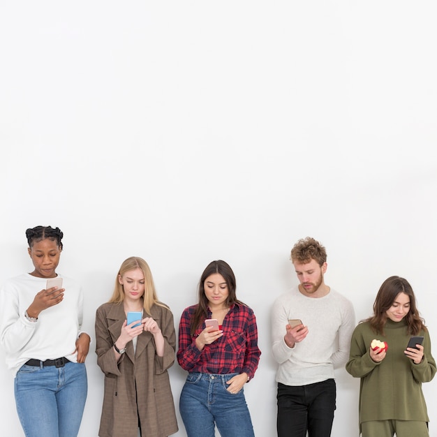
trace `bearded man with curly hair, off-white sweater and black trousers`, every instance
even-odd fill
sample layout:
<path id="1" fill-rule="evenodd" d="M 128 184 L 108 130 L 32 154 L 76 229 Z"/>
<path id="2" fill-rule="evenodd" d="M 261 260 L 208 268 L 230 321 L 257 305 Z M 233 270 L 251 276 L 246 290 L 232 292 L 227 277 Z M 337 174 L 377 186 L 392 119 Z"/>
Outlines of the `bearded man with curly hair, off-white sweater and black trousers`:
<path id="1" fill-rule="evenodd" d="M 299 285 L 279 296 L 272 312 L 279 437 L 329 437 L 336 401 L 334 368 L 349 357 L 355 328 L 351 302 L 327 286 L 325 247 L 311 237 L 291 251 Z M 294 320 L 297 320 L 295 322 Z"/>

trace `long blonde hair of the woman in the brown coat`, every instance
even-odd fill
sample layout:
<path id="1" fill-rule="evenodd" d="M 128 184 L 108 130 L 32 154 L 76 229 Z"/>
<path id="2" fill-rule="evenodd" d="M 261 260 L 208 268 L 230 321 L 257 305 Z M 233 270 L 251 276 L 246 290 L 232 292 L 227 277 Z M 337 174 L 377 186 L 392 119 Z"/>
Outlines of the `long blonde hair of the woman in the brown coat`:
<path id="1" fill-rule="evenodd" d="M 135 269 L 140 269 L 142 271 L 142 274 L 144 274 L 145 292 L 143 295 L 143 306 L 146 310 L 146 313 L 150 314 L 150 309 L 154 304 L 163 306 L 164 308 L 168 308 L 167 305 L 158 301 L 158 297 L 156 296 L 154 279 L 151 276 L 150 267 L 147 262 L 145 262 L 145 260 L 138 256 L 131 256 L 121 263 L 119 272 L 115 277 L 114 292 L 112 293 L 112 297 L 110 298 L 109 302 L 111 304 L 121 304 L 121 302 L 124 301 L 124 289 L 121 283 L 119 283 L 119 276 L 123 276 L 126 272 Z"/>

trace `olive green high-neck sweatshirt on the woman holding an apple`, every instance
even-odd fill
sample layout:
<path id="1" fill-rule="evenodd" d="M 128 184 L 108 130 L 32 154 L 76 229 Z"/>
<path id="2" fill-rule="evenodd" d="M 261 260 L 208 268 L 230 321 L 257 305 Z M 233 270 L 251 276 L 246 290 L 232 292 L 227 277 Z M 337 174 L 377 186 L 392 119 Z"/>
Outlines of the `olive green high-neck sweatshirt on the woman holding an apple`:
<path id="1" fill-rule="evenodd" d="M 429 333 L 424 336 L 424 357 L 420 364 L 406 357 L 410 334 L 406 321 L 387 319 L 385 335 L 371 330 L 369 322 L 355 327 L 350 342 L 350 357 L 346 370 L 360 382 L 360 431 L 362 422 L 369 420 L 416 420 L 429 422 L 427 404 L 422 393 L 422 383 L 429 382 L 436 374 L 436 362 L 431 355 Z M 369 353 L 373 339 L 387 341 L 387 355 L 380 363 L 374 362 Z"/>

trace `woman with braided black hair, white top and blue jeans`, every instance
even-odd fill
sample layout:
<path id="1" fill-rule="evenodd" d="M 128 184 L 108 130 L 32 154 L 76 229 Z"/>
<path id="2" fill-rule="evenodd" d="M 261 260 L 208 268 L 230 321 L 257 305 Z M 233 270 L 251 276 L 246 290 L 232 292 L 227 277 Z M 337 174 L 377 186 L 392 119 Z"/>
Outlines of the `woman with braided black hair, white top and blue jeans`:
<path id="1" fill-rule="evenodd" d="M 82 289 L 57 274 L 59 228 L 26 231 L 34 271 L 0 290 L 0 343 L 15 376 L 15 403 L 27 437 L 76 437 L 85 399 L 84 361 L 90 337 L 82 332 Z M 51 286 L 47 279 L 62 279 Z"/>

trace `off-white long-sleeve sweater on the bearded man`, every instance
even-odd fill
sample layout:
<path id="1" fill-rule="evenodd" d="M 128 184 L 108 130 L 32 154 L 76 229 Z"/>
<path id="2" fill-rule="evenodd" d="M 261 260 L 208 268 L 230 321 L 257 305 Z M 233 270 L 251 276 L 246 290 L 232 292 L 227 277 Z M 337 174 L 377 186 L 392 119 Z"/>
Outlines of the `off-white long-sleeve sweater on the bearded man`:
<path id="1" fill-rule="evenodd" d="M 293 348 L 284 341 L 290 319 L 300 319 L 308 335 Z M 272 353 L 278 362 L 276 381 L 308 385 L 334 378 L 334 368 L 346 364 L 355 328 L 352 303 L 335 290 L 306 297 L 298 286 L 276 298 L 272 309 Z"/>

